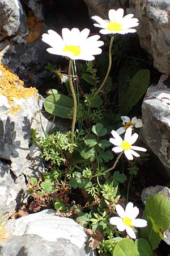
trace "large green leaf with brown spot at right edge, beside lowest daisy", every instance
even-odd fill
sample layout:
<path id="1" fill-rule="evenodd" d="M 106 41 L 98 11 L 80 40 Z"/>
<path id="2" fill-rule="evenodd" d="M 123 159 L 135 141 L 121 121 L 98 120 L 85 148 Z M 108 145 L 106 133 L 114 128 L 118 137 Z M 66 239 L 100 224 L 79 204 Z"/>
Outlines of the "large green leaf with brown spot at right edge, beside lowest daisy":
<path id="1" fill-rule="evenodd" d="M 146 228 L 142 228 L 145 238 L 155 250 L 163 239 L 163 232 L 170 228 L 170 200 L 163 194 L 148 197 L 143 218 L 147 220 Z"/>

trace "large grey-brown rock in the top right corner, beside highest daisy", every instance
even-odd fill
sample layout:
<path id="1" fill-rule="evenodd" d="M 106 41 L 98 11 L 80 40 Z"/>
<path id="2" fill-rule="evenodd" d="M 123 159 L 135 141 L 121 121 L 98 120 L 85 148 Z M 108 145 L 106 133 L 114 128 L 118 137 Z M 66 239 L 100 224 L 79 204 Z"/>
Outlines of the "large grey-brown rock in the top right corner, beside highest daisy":
<path id="1" fill-rule="evenodd" d="M 137 33 L 141 47 L 154 59 L 158 71 L 170 75 L 170 2 L 169 0 L 130 0 L 131 10 L 139 19 Z"/>

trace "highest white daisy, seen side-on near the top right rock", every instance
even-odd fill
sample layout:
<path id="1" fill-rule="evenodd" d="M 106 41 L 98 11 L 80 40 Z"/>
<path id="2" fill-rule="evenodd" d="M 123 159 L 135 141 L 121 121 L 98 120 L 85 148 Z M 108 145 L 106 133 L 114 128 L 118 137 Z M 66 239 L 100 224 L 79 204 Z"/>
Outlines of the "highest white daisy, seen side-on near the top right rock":
<path id="1" fill-rule="evenodd" d="M 109 20 L 101 19 L 99 16 L 92 16 L 99 24 L 94 24 L 95 27 L 102 28 L 101 34 L 128 34 L 134 33 L 136 30 L 132 27 L 139 25 L 138 19 L 133 18 L 133 14 L 124 16 L 124 9 L 109 10 Z"/>

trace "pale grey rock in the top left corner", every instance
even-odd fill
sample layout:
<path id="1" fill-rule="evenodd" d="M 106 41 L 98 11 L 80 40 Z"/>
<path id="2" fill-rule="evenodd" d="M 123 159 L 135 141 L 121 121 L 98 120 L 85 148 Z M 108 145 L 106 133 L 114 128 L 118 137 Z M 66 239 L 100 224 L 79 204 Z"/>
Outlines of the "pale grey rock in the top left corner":
<path id="1" fill-rule="evenodd" d="M 19 0 L 0 0 L 0 31 L 3 36 L 27 32 L 25 16 Z M 0 40 L 2 35 L 0 34 Z"/>

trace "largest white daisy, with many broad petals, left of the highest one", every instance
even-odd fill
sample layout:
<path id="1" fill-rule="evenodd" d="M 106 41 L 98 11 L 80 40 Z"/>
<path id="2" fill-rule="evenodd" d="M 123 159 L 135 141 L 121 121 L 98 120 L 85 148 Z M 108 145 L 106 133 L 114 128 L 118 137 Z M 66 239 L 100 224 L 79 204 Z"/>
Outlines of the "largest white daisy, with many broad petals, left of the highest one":
<path id="1" fill-rule="evenodd" d="M 62 28 L 62 37 L 53 30 L 48 30 L 48 34 L 42 34 L 42 41 L 52 48 L 46 49 L 49 53 L 69 57 L 72 60 L 94 60 L 94 55 L 102 52 L 99 48 L 103 46 L 103 41 L 99 41 L 100 36 L 94 35 L 88 38 L 90 30 L 84 28 Z"/>

